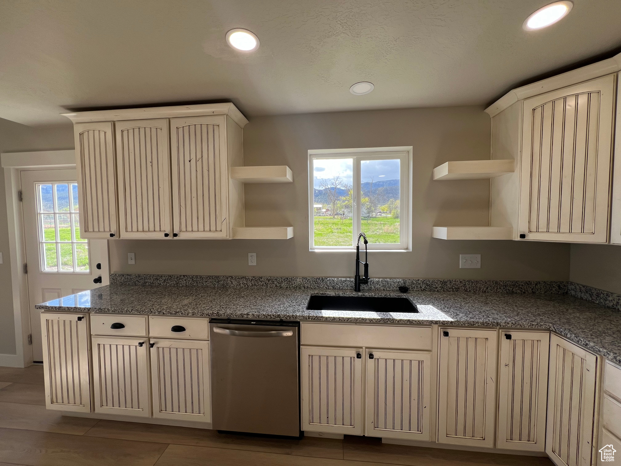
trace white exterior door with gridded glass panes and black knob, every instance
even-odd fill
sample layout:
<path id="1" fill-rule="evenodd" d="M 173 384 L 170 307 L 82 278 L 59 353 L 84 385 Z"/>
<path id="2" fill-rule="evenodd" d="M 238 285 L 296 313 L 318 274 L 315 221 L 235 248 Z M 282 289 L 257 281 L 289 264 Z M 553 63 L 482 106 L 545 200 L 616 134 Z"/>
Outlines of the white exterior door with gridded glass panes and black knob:
<path id="1" fill-rule="evenodd" d="M 34 361 L 43 360 L 40 311 L 35 304 L 108 284 L 107 240 L 80 236 L 76 176 L 73 169 L 21 173 Z M 94 283 L 100 276 L 101 283 Z M 71 305 L 73 298 L 64 301 Z"/>

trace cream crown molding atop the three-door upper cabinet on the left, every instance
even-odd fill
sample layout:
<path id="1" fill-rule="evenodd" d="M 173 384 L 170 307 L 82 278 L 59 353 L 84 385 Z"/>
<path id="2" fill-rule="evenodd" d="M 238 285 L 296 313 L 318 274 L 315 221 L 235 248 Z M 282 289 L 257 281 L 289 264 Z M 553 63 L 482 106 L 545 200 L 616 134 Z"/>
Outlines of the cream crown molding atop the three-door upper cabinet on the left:
<path id="1" fill-rule="evenodd" d="M 232 103 L 179 105 L 173 107 L 130 108 L 118 110 L 96 110 L 61 114 L 73 123 L 98 121 L 143 120 L 158 118 L 178 118 L 191 116 L 228 115 L 243 128 L 248 119 Z"/>

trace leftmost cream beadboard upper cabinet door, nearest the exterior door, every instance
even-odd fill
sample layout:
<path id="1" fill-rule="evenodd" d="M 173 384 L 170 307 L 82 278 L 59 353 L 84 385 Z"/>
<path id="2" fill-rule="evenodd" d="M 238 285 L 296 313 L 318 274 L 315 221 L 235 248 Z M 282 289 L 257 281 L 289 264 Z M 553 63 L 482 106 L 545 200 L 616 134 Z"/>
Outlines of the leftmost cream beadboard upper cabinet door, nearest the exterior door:
<path id="1" fill-rule="evenodd" d="M 73 129 L 80 234 L 83 238 L 118 237 L 112 123 L 78 123 Z"/>

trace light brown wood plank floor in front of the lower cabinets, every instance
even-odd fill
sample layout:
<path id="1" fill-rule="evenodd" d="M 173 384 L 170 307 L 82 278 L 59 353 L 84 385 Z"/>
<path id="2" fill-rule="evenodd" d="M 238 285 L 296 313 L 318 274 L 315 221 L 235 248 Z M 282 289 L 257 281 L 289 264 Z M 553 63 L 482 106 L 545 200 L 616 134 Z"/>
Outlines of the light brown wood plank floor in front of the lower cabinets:
<path id="1" fill-rule="evenodd" d="M 0 466 L 552 466 L 545 458 L 382 444 L 300 441 L 71 418 L 45 409 L 43 368 L 0 367 Z"/>

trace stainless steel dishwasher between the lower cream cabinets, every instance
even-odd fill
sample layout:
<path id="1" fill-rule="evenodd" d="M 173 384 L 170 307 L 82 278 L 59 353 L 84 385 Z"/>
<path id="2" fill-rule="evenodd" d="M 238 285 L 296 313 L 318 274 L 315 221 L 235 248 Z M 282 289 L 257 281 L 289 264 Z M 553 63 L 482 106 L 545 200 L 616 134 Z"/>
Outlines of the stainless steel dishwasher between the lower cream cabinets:
<path id="1" fill-rule="evenodd" d="M 299 322 L 211 319 L 213 428 L 300 435 Z"/>

